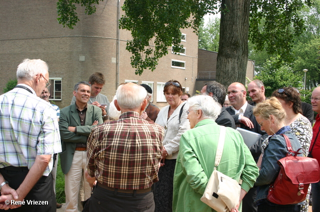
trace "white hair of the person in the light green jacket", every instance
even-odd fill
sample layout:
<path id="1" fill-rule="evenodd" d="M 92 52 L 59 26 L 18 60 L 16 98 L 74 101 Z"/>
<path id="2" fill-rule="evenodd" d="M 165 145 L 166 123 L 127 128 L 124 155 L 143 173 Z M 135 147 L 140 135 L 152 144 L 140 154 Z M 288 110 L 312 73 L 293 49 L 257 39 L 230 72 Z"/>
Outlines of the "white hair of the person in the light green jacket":
<path id="1" fill-rule="evenodd" d="M 187 100 L 191 110 L 201 110 L 203 118 L 215 119 L 221 113 L 221 106 L 219 103 L 208 95 L 197 95 Z"/>

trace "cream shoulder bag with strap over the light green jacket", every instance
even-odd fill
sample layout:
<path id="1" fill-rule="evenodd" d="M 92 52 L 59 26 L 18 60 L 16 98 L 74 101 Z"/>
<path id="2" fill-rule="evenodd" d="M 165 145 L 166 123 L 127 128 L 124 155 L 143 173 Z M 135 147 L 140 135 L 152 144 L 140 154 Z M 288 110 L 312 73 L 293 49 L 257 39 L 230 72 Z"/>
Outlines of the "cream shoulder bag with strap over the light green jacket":
<path id="1" fill-rule="evenodd" d="M 238 182 L 216 171 L 224 145 L 225 127 L 220 126 L 220 135 L 215 154 L 214 171 L 205 187 L 201 201 L 217 212 L 229 212 L 239 203 L 240 190 Z"/>

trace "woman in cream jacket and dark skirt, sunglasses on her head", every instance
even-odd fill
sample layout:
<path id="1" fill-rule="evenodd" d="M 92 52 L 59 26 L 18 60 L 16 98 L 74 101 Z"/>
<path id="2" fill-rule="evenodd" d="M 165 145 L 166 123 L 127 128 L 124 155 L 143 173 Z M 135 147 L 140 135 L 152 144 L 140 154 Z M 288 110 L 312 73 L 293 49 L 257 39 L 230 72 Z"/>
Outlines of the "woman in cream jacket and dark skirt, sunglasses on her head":
<path id="1" fill-rule="evenodd" d="M 153 195 L 155 212 L 172 212 L 174 167 L 181 134 L 190 129 L 186 114 L 189 105 L 180 99 L 182 86 L 176 80 L 164 84 L 163 94 L 169 105 L 160 110 L 155 120 L 156 124 L 164 128 L 164 138 L 159 181 L 153 184 Z"/>

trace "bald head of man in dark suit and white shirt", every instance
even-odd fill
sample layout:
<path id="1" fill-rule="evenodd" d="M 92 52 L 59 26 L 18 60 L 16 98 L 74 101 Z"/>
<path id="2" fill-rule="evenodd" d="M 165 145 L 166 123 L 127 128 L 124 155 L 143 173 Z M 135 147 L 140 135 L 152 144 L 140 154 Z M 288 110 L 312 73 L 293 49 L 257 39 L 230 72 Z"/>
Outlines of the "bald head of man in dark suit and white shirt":
<path id="1" fill-rule="evenodd" d="M 229 85 L 227 89 L 228 99 L 230 104 L 239 110 L 246 102 L 246 90 L 243 84 L 239 82 L 233 82 Z"/>

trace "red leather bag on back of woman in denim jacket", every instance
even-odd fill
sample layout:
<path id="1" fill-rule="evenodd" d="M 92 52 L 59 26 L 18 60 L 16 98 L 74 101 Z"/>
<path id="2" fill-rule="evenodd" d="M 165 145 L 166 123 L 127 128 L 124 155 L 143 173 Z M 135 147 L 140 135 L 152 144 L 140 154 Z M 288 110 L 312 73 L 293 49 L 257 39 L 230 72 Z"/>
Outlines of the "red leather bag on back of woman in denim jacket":
<path id="1" fill-rule="evenodd" d="M 278 205 L 297 204 L 305 200 L 310 183 L 320 180 L 319 165 L 314 158 L 297 157 L 300 153 L 292 150 L 286 135 L 281 135 L 288 152 L 286 157 L 278 160 L 280 172 L 270 185 L 266 199 Z"/>

